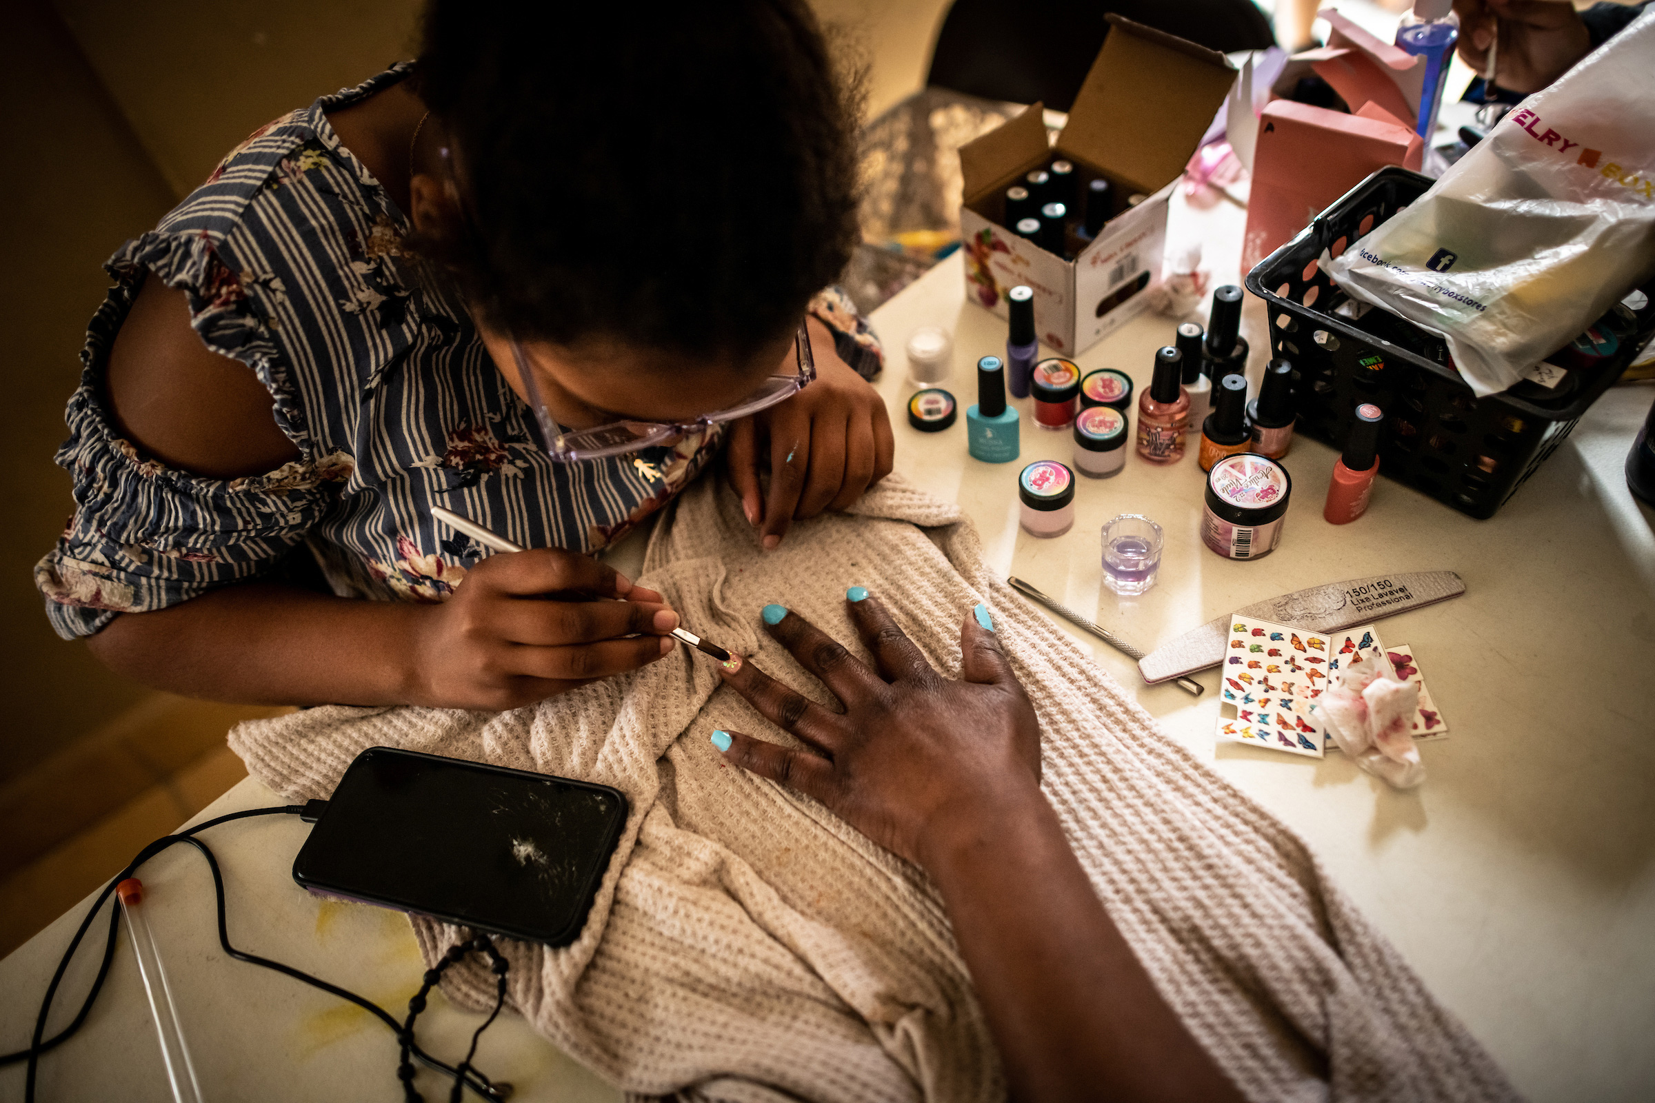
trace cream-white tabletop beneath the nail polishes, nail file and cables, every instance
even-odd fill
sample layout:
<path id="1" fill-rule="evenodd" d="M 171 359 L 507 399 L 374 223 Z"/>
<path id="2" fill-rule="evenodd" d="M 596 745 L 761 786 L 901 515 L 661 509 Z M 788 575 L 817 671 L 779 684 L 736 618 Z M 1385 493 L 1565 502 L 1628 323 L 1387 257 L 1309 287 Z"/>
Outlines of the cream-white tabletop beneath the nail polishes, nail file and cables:
<path id="1" fill-rule="evenodd" d="M 1173 202 L 1172 240 L 1203 240 L 1218 281 L 1235 279 L 1241 212 Z M 1380 478 L 1360 521 L 1321 519 L 1334 453 L 1294 443 L 1294 498 L 1281 547 L 1230 562 L 1198 539 L 1202 475 L 1127 460 L 1106 481 L 1081 480 L 1077 523 L 1058 539 L 1018 528 L 1023 463 L 1067 461 L 1067 433 L 1033 427 L 1023 456 L 967 458 L 965 418 L 935 435 L 907 425 L 902 346 L 922 324 L 955 334 L 947 385 L 975 402 L 978 356 L 1003 354 L 1005 324 L 967 304 L 958 256 L 874 316 L 890 351 L 879 389 L 897 435 L 897 470 L 957 499 L 988 557 L 1067 605 L 1094 614 L 1140 647 L 1284 590 L 1392 571 L 1458 571 L 1465 597 L 1380 622 L 1387 643 L 1415 648 L 1451 736 L 1423 747 L 1425 785 L 1400 794 L 1339 754 L 1322 761 L 1215 744 L 1216 671 L 1192 698 L 1145 686 L 1135 665 L 1072 630 L 1099 665 L 1165 731 L 1309 840 L 1334 878 L 1397 944 L 1437 996 L 1534 1100 L 1655 1096 L 1655 513 L 1627 493 L 1622 463 L 1655 387 L 1610 390 L 1574 435 L 1491 521 L 1473 521 Z M 1259 311 L 1248 316 L 1261 324 Z M 1139 387 L 1173 322 L 1140 316 L 1079 357 L 1119 367 Z M 1248 329 L 1256 351 L 1266 339 Z M 1258 359 L 1258 357 L 1256 357 Z M 1256 382 L 1258 364 L 1253 379 Z M 1099 584 L 1099 528 L 1145 513 L 1167 532 L 1160 582 L 1117 599 Z M 1059 622 L 1064 623 L 1064 622 Z M 280 804 L 245 781 L 202 814 Z M 295 817 L 210 832 L 225 868 L 230 938 L 362 992 L 404 1005 L 420 962 L 407 921 L 367 906 L 321 903 L 290 878 L 308 830 Z M 157 939 L 172 971 L 207 1098 L 401 1098 L 392 1035 L 366 1012 L 265 969 L 227 959 L 212 929 L 212 886 L 194 852 L 152 860 Z M 38 996 L 83 908 L 0 962 L 0 1048 L 26 1042 Z M 101 926 L 101 924 L 99 924 Z M 66 991 L 84 991 L 83 954 Z M 53 1022 L 65 1022 L 60 1012 Z M 452 1060 L 477 1017 L 440 997 L 422 1017 L 429 1050 Z M 520 1100 L 614 1100 L 589 1072 L 503 1017 L 483 1037 L 478 1067 L 516 1085 Z M 83 1032 L 41 1063 L 43 1100 L 164 1100 L 159 1048 L 124 939 Z M 422 1073 L 427 1098 L 447 1082 Z M 22 1065 L 0 1070 L 0 1093 L 22 1098 Z"/>

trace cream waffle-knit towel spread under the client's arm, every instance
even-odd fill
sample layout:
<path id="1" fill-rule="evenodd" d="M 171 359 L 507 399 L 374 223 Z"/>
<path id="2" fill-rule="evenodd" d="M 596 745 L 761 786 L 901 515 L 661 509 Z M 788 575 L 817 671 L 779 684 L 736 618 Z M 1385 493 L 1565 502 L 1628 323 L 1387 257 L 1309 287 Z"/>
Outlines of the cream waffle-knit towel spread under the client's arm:
<path id="1" fill-rule="evenodd" d="M 816 700 L 826 691 L 756 630 L 766 602 L 861 653 L 844 590 L 866 585 L 952 676 L 960 618 L 986 602 L 1039 713 L 1044 789 L 1069 842 L 1160 992 L 1250 1098 L 1513 1098 L 1306 845 L 993 577 L 955 506 L 890 478 L 857 516 L 808 521 L 765 554 L 735 496 L 702 480 L 657 528 L 642 580 L 693 630 Z M 636 1096 L 1003 1098 L 925 875 L 727 766 L 715 728 L 788 739 L 680 648 L 511 713 L 316 708 L 242 724 L 230 744 L 293 800 L 326 797 L 369 746 L 626 792 L 631 819 L 581 938 L 508 954 L 511 1007 Z M 427 961 L 463 938 L 427 919 L 414 929 Z M 492 1004 L 482 969 L 449 977 L 450 997 Z"/>

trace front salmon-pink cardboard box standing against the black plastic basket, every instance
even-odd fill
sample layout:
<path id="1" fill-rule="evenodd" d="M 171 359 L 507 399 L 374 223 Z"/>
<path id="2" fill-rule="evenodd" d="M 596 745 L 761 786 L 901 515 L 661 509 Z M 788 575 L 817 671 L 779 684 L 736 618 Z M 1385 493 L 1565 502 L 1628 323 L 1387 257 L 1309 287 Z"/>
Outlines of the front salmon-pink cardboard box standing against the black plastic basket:
<path id="1" fill-rule="evenodd" d="M 1418 169 L 1423 154 L 1413 127 L 1375 103 L 1346 114 L 1273 101 L 1258 121 L 1241 271 L 1251 271 L 1375 169 Z"/>

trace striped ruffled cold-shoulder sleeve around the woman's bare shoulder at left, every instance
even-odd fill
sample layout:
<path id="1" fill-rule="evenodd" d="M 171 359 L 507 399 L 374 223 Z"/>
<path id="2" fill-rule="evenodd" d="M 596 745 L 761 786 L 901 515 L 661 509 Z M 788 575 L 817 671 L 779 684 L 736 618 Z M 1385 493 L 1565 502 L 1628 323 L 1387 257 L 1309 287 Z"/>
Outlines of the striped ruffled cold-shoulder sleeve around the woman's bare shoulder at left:
<path id="1" fill-rule="evenodd" d="M 207 235 L 152 232 L 108 268 L 116 286 L 88 329 L 70 437 L 56 455 L 73 478 L 76 509 L 35 566 L 46 615 L 65 638 L 93 635 L 122 612 L 166 609 L 275 571 L 333 501 L 331 485 L 353 473 L 348 455 L 316 455 L 265 321 Z M 146 271 L 187 293 L 190 324 L 209 347 L 258 375 L 300 460 L 255 478 L 215 480 L 167 468 L 121 438 L 104 407 L 104 372 Z"/>

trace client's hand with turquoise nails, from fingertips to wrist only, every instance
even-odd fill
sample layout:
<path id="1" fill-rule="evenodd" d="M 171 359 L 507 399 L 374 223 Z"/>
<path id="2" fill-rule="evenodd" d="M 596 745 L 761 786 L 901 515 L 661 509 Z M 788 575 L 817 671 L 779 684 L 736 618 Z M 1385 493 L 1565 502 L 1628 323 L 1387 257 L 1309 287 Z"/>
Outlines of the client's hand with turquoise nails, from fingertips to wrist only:
<path id="1" fill-rule="evenodd" d="M 727 733 L 730 761 L 798 789 L 887 850 L 930 865 L 957 828 L 1039 795 L 1039 723 L 1011 673 L 988 609 L 960 627 L 965 681 L 943 678 L 879 599 L 849 595 L 851 620 L 879 666 L 780 605 L 770 632 L 844 704 L 832 713 L 756 666 L 725 673 L 730 686 L 804 749 Z M 715 736 L 715 742 L 718 738 Z"/>

